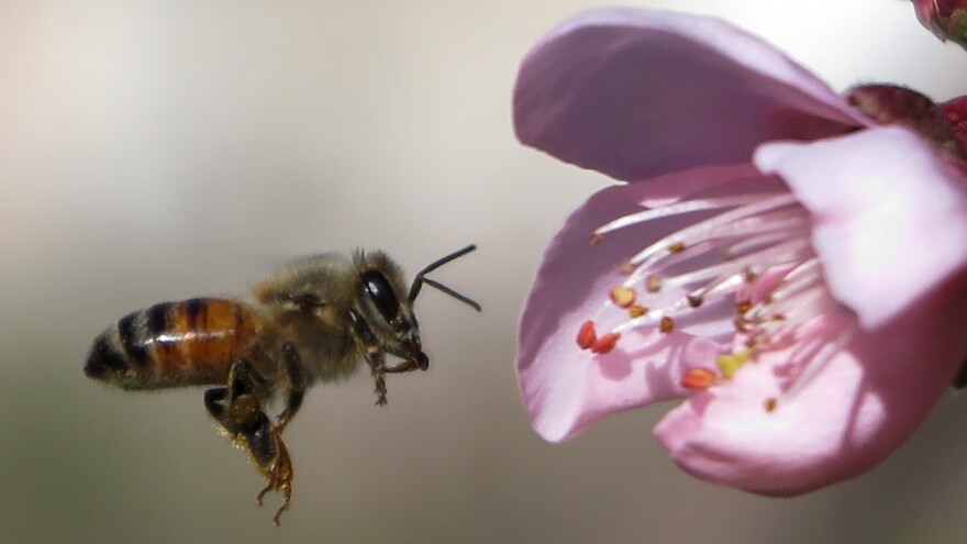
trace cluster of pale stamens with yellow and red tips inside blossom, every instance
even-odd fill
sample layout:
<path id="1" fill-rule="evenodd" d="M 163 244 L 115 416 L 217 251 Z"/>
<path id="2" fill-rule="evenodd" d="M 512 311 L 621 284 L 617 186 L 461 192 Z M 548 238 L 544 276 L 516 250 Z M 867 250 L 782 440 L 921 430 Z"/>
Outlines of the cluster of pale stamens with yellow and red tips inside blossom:
<path id="1" fill-rule="evenodd" d="M 836 308 L 810 244 L 810 215 L 788 189 L 697 198 L 643 210 L 598 227 L 591 243 L 609 232 L 671 215 L 703 212 L 691 225 L 641 249 L 621 267 L 614 286 L 577 336 L 581 349 L 605 354 L 635 330 L 676 330 L 726 323 L 740 338 L 735 353 L 714 367 L 692 368 L 681 377 L 689 389 L 731 379 L 748 360 L 768 349 L 797 344 L 790 357 L 793 377 L 782 398 L 794 395 L 847 342 L 802 336 L 801 325 Z M 652 299 L 659 303 L 649 303 Z M 615 318 L 614 313 L 621 312 Z M 599 334 L 597 323 L 616 323 Z M 723 327 L 724 329 L 724 327 Z M 802 337 L 800 337 L 802 336 Z M 771 411 L 782 399 L 766 399 Z"/>

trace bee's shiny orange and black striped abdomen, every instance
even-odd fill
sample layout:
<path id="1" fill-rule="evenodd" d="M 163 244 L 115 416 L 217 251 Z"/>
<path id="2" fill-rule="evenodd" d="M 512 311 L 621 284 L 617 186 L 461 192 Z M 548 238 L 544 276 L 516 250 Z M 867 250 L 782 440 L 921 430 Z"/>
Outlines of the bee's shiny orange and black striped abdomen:
<path id="1" fill-rule="evenodd" d="M 256 327 L 255 313 L 234 300 L 162 302 L 95 338 L 84 371 L 124 389 L 224 384 Z"/>

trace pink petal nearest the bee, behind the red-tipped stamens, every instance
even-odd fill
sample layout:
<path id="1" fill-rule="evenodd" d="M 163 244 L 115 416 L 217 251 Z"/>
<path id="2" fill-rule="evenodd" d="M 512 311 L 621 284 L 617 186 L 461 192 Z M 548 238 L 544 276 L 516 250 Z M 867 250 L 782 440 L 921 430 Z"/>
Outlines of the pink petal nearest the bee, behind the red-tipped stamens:
<path id="1" fill-rule="evenodd" d="M 624 275 L 621 264 L 648 238 L 681 226 L 681 220 L 609 233 L 591 246 L 591 232 L 615 217 L 640 210 L 645 184 L 608 187 L 571 212 L 537 271 L 520 323 L 518 377 L 534 430 L 548 441 L 570 437 L 608 413 L 682 397 L 687 368 L 714 362 L 720 346 L 681 332 L 632 332 L 605 355 L 581 351 L 581 323 L 608 299 Z M 616 323 L 599 323 L 603 333 Z"/>

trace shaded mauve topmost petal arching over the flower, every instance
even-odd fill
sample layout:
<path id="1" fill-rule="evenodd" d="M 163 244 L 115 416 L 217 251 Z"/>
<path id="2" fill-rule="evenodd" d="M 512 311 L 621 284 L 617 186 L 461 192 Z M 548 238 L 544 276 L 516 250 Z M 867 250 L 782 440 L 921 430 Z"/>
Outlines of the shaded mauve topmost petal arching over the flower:
<path id="1" fill-rule="evenodd" d="M 866 122 L 823 81 L 718 19 L 600 9 L 546 35 L 514 90 L 520 140 L 622 180 L 748 160 L 770 140 Z"/>

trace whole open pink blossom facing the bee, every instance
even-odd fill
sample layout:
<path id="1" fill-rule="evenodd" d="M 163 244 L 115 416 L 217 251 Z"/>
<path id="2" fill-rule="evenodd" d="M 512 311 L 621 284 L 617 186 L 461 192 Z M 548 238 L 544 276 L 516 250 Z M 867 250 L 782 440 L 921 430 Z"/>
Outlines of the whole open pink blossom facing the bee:
<path id="1" fill-rule="evenodd" d="M 905 123 L 920 96 L 881 90 L 847 101 L 710 18 L 596 10 L 542 38 L 519 137 L 626 184 L 571 212 L 527 298 L 535 431 L 686 399 L 654 431 L 675 462 L 767 495 L 909 437 L 967 353 L 967 184 L 942 112 Z"/>

